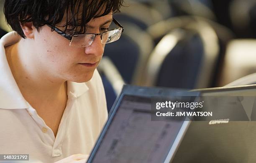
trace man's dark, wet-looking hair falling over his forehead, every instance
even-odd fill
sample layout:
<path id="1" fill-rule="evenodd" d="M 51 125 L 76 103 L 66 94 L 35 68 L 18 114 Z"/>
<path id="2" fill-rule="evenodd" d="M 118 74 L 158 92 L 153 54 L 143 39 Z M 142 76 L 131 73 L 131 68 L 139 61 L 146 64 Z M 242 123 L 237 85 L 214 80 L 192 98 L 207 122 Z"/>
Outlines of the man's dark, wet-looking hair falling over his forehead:
<path id="1" fill-rule="evenodd" d="M 123 0 L 5 0 L 7 23 L 26 38 L 20 25 L 32 22 L 36 29 L 48 24 L 55 26 L 66 17 L 64 32 L 85 33 L 92 18 L 120 12 Z M 79 29 L 79 30 L 77 30 Z"/>

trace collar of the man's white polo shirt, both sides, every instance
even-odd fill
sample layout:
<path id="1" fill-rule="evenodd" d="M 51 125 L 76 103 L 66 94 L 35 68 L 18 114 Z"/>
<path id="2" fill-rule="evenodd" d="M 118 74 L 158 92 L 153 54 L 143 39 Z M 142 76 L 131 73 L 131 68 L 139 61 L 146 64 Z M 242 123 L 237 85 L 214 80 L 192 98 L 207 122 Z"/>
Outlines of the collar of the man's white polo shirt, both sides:
<path id="1" fill-rule="evenodd" d="M 27 109 L 29 105 L 22 96 L 20 89 L 10 70 L 5 47 L 15 44 L 21 39 L 16 32 L 9 32 L 0 39 L 0 109 Z M 75 97 L 84 94 L 89 88 L 85 83 L 67 82 L 68 94 Z"/>

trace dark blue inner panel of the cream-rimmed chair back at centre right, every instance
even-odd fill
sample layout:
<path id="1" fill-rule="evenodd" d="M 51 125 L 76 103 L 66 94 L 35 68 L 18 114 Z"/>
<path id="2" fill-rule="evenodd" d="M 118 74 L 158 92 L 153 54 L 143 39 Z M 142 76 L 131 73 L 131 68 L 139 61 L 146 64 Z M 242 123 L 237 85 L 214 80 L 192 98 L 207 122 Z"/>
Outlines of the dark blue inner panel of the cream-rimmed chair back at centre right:
<path id="1" fill-rule="evenodd" d="M 197 34 L 186 36 L 166 55 L 156 80 L 156 86 L 193 89 L 204 56 L 202 40 Z"/>

